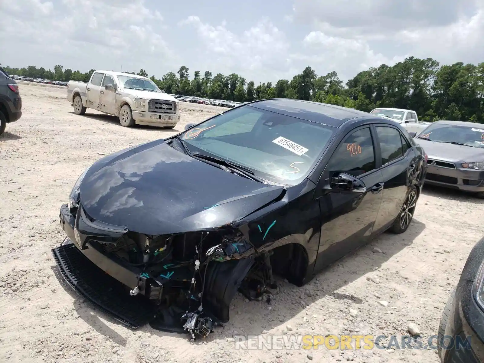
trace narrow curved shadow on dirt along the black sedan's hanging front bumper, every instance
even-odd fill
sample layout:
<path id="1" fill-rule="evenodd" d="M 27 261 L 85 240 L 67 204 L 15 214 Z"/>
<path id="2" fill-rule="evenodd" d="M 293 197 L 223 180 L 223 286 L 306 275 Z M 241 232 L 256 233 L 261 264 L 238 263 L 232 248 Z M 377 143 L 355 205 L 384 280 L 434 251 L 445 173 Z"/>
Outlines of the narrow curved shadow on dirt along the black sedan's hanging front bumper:
<path id="1" fill-rule="evenodd" d="M 114 343 L 125 347 L 126 338 L 109 328 L 101 318 L 112 324 L 120 324 L 120 322 L 111 315 L 105 313 L 96 305 L 92 304 L 90 301 L 86 300 L 82 295 L 78 294 L 71 286 L 69 286 L 61 276 L 61 272 L 59 272 L 56 265 L 51 266 L 50 268 L 59 280 L 61 287 L 74 299 L 73 305 L 76 313 L 79 315 L 79 319 L 84 320 L 97 333 L 107 336 Z"/>

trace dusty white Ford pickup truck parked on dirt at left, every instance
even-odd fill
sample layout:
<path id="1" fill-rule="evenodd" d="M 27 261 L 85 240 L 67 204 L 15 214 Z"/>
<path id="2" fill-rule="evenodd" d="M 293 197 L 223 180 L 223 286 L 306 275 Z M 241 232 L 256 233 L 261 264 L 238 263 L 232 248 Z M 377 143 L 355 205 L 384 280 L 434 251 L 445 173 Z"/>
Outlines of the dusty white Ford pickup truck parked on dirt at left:
<path id="1" fill-rule="evenodd" d="M 129 73 L 95 71 L 89 82 L 69 81 L 67 100 L 77 115 L 93 108 L 117 116 L 122 126 L 172 129 L 180 121 L 180 103 L 151 79 Z"/>

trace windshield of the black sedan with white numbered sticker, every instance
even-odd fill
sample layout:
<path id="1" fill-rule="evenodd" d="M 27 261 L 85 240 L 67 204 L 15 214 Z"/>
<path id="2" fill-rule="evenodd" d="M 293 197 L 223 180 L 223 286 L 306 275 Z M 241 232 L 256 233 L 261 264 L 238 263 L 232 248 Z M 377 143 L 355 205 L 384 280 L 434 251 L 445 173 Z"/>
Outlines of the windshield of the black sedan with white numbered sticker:
<path id="1" fill-rule="evenodd" d="M 280 184 L 298 184 L 332 139 L 335 128 L 252 106 L 237 107 L 182 134 L 191 152 L 244 166 Z"/>

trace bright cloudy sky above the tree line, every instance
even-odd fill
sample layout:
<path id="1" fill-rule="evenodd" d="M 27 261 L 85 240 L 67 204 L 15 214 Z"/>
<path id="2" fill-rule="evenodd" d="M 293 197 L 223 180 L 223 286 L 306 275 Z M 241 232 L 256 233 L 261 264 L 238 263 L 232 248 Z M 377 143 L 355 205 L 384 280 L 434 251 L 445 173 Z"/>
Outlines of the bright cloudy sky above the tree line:
<path id="1" fill-rule="evenodd" d="M 484 0 L 0 1 L 0 63 L 86 72 L 181 65 L 247 80 L 348 78 L 412 55 L 484 61 Z"/>

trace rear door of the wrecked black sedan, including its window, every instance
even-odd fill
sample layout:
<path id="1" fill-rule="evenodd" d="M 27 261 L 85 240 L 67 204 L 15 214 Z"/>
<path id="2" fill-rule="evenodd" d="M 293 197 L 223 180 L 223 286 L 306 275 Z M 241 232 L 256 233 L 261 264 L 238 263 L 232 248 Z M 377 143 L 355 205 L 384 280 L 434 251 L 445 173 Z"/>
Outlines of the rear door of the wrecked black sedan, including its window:
<path id="1" fill-rule="evenodd" d="M 410 184 L 410 173 L 416 167 L 416 154 L 397 127 L 375 124 L 375 135 L 380 145 L 381 165 L 385 187 L 375 222 L 375 233 L 390 227 L 402 209 Z"/>

